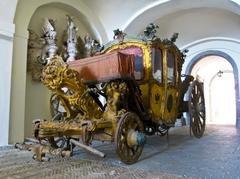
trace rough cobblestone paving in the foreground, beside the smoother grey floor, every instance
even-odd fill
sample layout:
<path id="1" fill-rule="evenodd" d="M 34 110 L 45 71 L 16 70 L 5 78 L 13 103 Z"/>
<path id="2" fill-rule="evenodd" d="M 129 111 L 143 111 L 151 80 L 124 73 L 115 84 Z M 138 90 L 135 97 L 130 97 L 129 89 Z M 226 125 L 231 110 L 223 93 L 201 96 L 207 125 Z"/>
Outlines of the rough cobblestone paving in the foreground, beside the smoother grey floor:
<path id="1" fill-rule="evenodd" d="M 14 147 L 0 147 L 0 178 L 84 178 L 84 179 L 171 179 L 185 178 L 142 169 L 130 169 L 102 161 L 53 157 L 49 162 L 37 162 L 29 151 L 20 151 Z"/>

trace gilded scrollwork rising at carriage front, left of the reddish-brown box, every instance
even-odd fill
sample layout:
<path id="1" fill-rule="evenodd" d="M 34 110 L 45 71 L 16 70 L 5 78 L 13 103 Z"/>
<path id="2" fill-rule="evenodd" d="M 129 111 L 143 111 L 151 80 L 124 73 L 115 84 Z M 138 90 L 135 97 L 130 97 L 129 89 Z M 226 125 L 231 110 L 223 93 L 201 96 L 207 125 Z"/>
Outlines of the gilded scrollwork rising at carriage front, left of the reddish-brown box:
<path id="1" fill-rule="evenodd" d="M 43 69 L 42 82 L 50 90 L 61 96 L 62 104 L 67 111 L 67 118 L 81 111 L 85 119 L 99 119 L 102 111 L 89 90 L 84 85 L 79 73 L 68 68 L 60 56 L 55 56 Z M 89 107 L 91 106 L 91 107 Z"/>

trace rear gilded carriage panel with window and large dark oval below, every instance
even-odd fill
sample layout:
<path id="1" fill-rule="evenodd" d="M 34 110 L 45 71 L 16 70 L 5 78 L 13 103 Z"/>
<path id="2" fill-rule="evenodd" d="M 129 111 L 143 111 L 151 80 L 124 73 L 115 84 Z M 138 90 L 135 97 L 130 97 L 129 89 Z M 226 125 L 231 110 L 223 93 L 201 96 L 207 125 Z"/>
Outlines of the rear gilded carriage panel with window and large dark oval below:
<path id="1" fill-rule="evenodd" d="M 174 124 L 177 112 L 177 72 L 176 72 L 176 55 L 172 49 L 166 52 L 165 63 L 165 107 L 164 120 L 169 124 Z"/>

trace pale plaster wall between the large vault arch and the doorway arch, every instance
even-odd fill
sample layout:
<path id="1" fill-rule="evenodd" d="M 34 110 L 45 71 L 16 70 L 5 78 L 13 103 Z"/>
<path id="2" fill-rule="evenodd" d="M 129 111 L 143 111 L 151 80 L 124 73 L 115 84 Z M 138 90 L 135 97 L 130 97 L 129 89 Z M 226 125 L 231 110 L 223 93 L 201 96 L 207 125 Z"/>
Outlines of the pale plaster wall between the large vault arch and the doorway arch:
<path id="1" fill-rule="evenodd" d="M 239 15 L 215 8 L 197 8 L 179 11 L 155 21 L 160 38 L 179 33 L 177 45 L 183 46 L 207 37 L 240 38 Z"/>

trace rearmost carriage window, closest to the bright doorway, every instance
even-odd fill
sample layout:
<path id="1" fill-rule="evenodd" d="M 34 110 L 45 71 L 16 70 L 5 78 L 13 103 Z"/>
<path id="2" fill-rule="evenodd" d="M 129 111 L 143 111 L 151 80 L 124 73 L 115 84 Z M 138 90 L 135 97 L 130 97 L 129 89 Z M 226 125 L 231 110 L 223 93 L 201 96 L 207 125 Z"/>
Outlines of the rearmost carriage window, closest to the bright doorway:
<path id="1" fill-rule="evenodd" d="M 175 56 L 174 53 L 167 53 L 167 82 L 168 84 L 175 84 Z"/>

